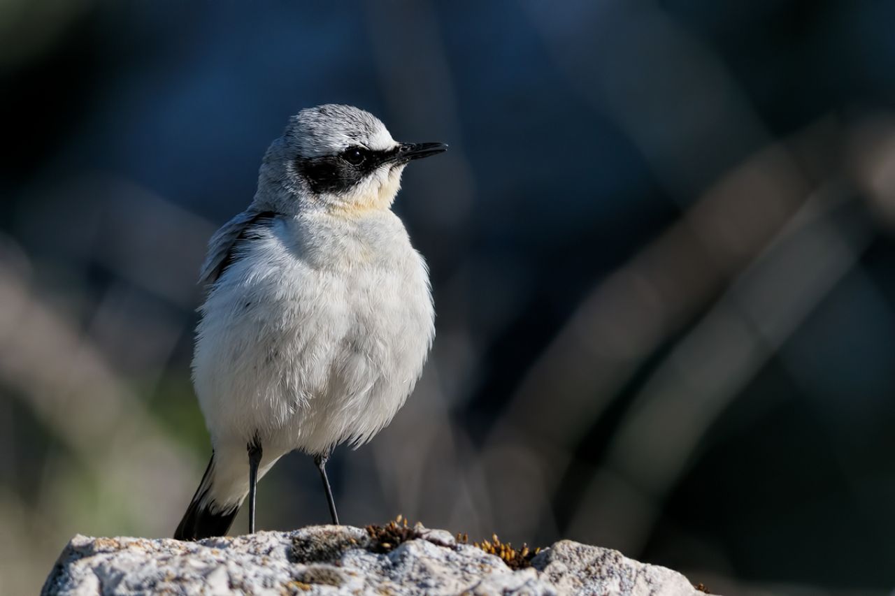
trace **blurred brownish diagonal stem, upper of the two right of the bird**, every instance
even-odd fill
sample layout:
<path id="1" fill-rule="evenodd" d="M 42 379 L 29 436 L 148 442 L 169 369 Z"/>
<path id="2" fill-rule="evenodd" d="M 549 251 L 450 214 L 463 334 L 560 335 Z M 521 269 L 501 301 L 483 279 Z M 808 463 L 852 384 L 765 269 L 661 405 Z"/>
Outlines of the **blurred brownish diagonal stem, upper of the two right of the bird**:
<path id="1" fill-rule="evenodd" d="M 763 251 L 809 186 L 781 145 L 726 175 L 584 300 L 525 375 L 492 440 L 575 445 L 644 359 Z"/>

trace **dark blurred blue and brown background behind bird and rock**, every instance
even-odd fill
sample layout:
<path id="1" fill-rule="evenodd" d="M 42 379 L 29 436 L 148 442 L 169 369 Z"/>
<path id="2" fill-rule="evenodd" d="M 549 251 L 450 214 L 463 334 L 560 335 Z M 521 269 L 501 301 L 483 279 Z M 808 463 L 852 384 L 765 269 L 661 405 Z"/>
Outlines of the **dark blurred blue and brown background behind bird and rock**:
<path id="1" fill-rule="evenodd" d="M 713 592 L 895 587 L 895 3 L 4 0 L 0 592 L 168 536 L 197 271 L 304 106 L 451 150 L 396 210 L 438 337 L 345 523 L 561 537 Z M 310 458 L 263 529 L 328 520 Z M 244 532 L 241 515 L 233 532 Z"/>

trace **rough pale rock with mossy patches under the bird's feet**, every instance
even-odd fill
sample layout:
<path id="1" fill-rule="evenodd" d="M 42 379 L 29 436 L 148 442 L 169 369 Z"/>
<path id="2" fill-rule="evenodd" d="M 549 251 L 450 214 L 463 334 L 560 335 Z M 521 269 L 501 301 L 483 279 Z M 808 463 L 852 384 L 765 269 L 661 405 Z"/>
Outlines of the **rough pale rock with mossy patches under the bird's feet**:
<path id="1" fill-rule="evenodd" d="M 418 530 L 419 538 L 401 544 L 351 526 L 200 542 L 79 535 L 42 593 L 701 594 L 683 575 L 615 550 L 560 541 L 514 571 L 448 532 Z"/>

